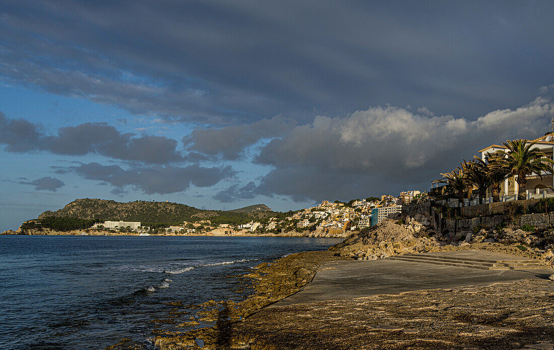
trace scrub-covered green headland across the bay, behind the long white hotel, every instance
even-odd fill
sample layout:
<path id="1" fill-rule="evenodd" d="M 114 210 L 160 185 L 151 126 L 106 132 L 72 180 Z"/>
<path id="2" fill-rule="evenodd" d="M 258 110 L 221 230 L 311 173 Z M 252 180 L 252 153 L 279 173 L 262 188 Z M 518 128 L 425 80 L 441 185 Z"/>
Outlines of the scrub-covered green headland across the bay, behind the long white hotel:
<path id="1" fill-rule="evenodd" d="M 213 223 L 242 224 L 253 219 L 280 217 L 283 213 L 273 212 L 265 204 L 255 204 L 234 210 L 206 210 L 190 205 L 172 202 L 135 202 L 120 203 L 105 199 L 76 199 L 64 208 L 52 212 L 48 210 L 39 215 L 37 223 L 43 227 L 74 227 L 82 222 L 104 222 L 105 220 L 139 221 L 143 225 L 167 227 L 184 221 L 197 222 L 211 220 Z M 58 218 L 53 220 L 53 218 Z M 53 227 L 50 227 L 52 225 Z"/>

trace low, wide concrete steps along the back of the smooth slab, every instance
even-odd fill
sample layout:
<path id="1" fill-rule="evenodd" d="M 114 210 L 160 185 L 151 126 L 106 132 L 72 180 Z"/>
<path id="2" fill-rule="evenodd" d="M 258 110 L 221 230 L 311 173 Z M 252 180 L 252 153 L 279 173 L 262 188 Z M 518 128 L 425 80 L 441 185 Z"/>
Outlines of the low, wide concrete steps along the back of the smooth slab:
<path id="1" fill-rule="evenodd" d="M 445 266 L 469 267 L 470 269 L 480 270 L 528 270 L 528 269 L 546 269 L 541 260 L 523 259 L 523 260 L 484 260 L 484 259 L 466 259 L 458 257 L 426 255 L 426 254 L 406 254 L 396 255 L 388 258 L 391 260 L 412 261 L 414 263 L 425 263 Z"/>

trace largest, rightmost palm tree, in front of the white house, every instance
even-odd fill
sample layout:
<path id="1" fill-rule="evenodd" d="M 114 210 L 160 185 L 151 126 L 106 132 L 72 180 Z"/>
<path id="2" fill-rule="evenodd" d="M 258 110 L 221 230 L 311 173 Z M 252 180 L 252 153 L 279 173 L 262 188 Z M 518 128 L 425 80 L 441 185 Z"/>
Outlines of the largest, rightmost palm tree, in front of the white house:
<path id="1" fill-rule="evenodd" d="M 531 148 L 536 142 L 513 140 L 502 143 L 507 150 L 498 151 L 493 157 L 494 166 L 509 175 L 517 175 L 519 193 L 517 199 L 525 199 L 527 176 L 535 173 L 542 180 L 542 172 L 551 172 L 554 161 L 548 159 L 545 153 L 537 147 Z"/>

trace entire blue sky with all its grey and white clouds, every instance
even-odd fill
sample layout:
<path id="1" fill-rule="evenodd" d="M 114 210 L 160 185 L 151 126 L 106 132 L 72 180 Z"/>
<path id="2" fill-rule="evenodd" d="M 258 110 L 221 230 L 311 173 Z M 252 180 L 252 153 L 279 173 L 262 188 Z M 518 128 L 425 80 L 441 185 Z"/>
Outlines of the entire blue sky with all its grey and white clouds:
<path id="1" fill-rule="evenodd" d="M 554 117 L 551 1 L 0 2 L 0 230 L 430 188 Z"/>

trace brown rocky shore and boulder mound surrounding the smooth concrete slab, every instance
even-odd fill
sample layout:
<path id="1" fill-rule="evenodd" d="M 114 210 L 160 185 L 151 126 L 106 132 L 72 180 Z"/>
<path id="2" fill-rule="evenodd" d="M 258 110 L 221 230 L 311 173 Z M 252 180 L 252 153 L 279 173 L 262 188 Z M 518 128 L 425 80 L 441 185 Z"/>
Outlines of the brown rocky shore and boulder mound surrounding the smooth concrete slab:
<path id="1" fill-rule="evenodd" d="M 237 303 L 209 301 L 197 306 L 199 311 L 183 325 L 189 331 L 158 330 L 156 346 L 161 350 L 201 346 L 207 350 L 514 349 L 553 339 L 554 285 L 549 280 L 267 307 L 301 290 L 325 261 L 481 249 L 542 259 L 554 265 L 551 249 L 521 248 L 521 240 L 531 235 L 521 230 L 505 230 L 504 234 L 500 230 L 494 233 L 500 240 L 495 243 L 484 242 L 479 237 L 489 233 L 478 232 L 469 235 L 469 243 L 465 236 L 460 240 L 448 233 L 433 233 L 413 218 L 404 219 L 408 224 L 388 220 L 328 251 L 292 254 L 254 267 L 242 276 L 252 282 L 253 295 Z M 519 240 L 501 241 L 502 235 Z M 195 328 L 209 322 L 212 327 Z M 130 348 L 129 339 L 110 347 Z"/>

